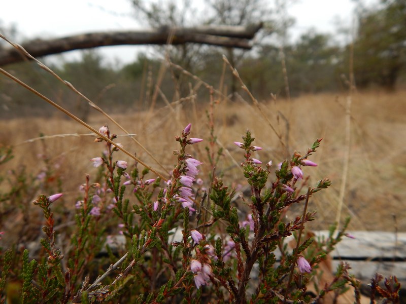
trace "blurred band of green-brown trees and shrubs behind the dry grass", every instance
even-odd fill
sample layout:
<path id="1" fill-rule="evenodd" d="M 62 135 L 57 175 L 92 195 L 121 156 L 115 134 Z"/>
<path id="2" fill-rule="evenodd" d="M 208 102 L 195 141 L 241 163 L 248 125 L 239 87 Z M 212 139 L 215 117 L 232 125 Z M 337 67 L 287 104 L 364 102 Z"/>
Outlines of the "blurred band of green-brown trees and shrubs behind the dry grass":
<path id="1" fill-rule="evenodd" d="M 188 26 L 193 11 L 166 1 L 156 5 L 149 1 L 131 0 L 134 10 L 146 27 L 163 25 Z M 345 75 L 349 74 L 350 54 L 353 54 L 353 69 L 356 87 L 359 90 L 383 88 L 394 91 L 406 82 L 406 2 L 404 0 L 382 0 L 378 6 L 365 7 L 358 2 L 356 26 L 351 42 L 337 39 L 341 33 L 327 35 L 317 30 L 302 34 L 294 43 L 288 43 L 289 27 L 294 24 L 288 15 L 290 1 L 276 0 L 273 9 L 262 0 L 206 0 L 211 16 L 195 16 L 200 24 L 247 25 L 264 22 L 251 51 L 222 49 L 209 46 L 183 45 L 170 47 L 168 54 L 172 62 L 211 85 L 220 83 L 224 75 L 223 92 L 231 96 L 242 94 L 228 69 L 223 70 L 221 56 L 225 54 L 235 66 L 258 100 L 269 100 L 270 93 L 279 98 L 295 97 L 303 93 L 338 92 L 347 90 Z M 0 23 L 1 26 L 1 23 Z M 0 30 L 13 38 L 15 28 Z M 345 29 L 342 29 L 344 31 Z M 348 30 L 347 30 L 348 31 Z M 347 35 L 347 36 L 348 36 Z M 4 43 L 2 43 L 4 45 Z M 2 46 L 0 45 L 0 46 Z M 84 95 L 104 107 L 107 111 L 123 109 L 143 110 L 149 107 L 151 94 L 158 81 L 161 59 L 165 47 L 156 48 L 156 56 L 139 53 L 136 60 L 125 65 L 106 64 L 97 49 L 83 51 L 81 60 L 67 61 L 60 56 L 58 64 L 47 62 L 61 77 L 74 84 Z M 351 51 L 353 49 L 353 51 Z M 284 74 L 283 67 L 286 67 Z M 80 102 L 74 93 L 62 90 L 61 84 L 33 63 L 9 65 L 21 80 L 40 92 L 47 92 L 56 101 L 76 112 L 82 118 L 88 115 L 89 107 Z M 287 76 L 287 81 L 284 76 Z M 348 78 L 348 77 L 347 77 Z M 174 86 L 174 82 L 176 85 Z M 165 73 L 160 89 L 173 100 L 189 94 L 188 80 L 179 70 Z M 202 92 L 200 97 L 205 97 Z M 201 98 L 204 99 L 204 98 Z M 162 102 L 158 96 L 157 102 Z M 17 84 L 0 80 L 1 118 L 24 115 L 49 115 L 51 108 L 44 106 L 31 93 L 21 90 Z M 41 104 L 39 107 L 38 104 Z M 23 106 L 22 106 L 23 105 Z"/>

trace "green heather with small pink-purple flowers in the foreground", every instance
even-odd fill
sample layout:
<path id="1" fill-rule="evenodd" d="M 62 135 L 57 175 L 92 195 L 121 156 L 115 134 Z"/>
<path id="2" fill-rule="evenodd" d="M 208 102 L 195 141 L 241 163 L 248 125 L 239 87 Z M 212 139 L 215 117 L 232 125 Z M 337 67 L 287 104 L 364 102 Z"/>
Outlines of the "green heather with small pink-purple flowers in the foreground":
<path id="1" fill-rule="evenodd" d="M 238 77 L 236 70 L 233 74 Z M 37 242 L 40 246 L 28 248 L 27 242 L 8 239 L 10 232 L 0 232 L 10 244 L 0 249 L 2 302 L 316 303 L 329 294 L 336 301 L 350 285 L 354 301 L 360 302 L 360 283 L 346 263 L 339 265 L 330 282 L 317 285 L 329 252 L 343 237 L 351 237 L 345 232 L 349 219 L 341 229 L 332 226 L 324 240 L 316 241 L 306 232 L 306 224 L 316 219 L 316 211 L 308 211 L 312 197 L 331 184 L 327 178 L 314 185 L 309 182 L 312 167 L 317 166 L 310 158 L 321 139 L 304 154 L 294 151 L 289 159 L 262 164 L 255 158 L 262 147 L 254 145 L 247 130 L 241 142 L 234 142 L 241 149 L 239 165 L 249 186 L 249 193 L 239 193 L 230 186 L 233 181 L 216 170 L 222 150 L 216 151 L 213 100 L 206 149 L 211 173 L 200 174 L 203 163 L 192 155 L 190 146 L 204 140 L 191 137 L 188 124 L 175 136 L 178 149 L 172 171 L 160 174 L 116 142 L 117 135 L 107 125 L 95 130 L 29 90 L 95 133 L 94 144 L 100 145 L 101 154 L 89 160 L 98 173 L 87 174 L 79 185 L 80 195 L 72 202 L 72 224 L 63 223 L 69 219 L 69 211 L 57 205 L 64 197 L 63 184 L 51 187 L 55 179 L 49 176 L 55 175 L 49 159 L 43 157 L 47 166 L 37 180 L 48 178 L 25 191 L 43 193 L 33 201 L 44 216 L 42 239 Z M 122 152 L 134 162 L 124 161 Z M 0 165 L 12 158 L 10 149 L 0 153 Z M 27 180 L 26 173 L 11 184 L 21 180 Z M 35 183 L 22 183 L 28 189 L 31 184 Z M 8 208 L 18 193 L 15 189 L 19 188 L 12 186 L 0 196 Z M 31 199 L 24 196 L 24 200 L 26 205 Z M 287 218 L 292 205 L 302 212 Z M 24 224 L 30 220 L 30 213 L 26 214 Z M 396 277 L 386 279 L 383 287 L 382 279 L 377 275 L 371 281 L 371 300 L 380 296 L 398 303 Z"/>

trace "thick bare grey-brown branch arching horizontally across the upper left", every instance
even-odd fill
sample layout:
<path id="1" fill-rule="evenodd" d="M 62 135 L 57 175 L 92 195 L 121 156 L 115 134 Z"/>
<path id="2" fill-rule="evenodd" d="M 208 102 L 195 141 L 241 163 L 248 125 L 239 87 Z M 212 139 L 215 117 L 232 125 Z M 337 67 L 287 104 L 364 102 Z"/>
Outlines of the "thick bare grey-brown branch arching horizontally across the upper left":
<path id="1" fill-rule="evenodd" d="M 164 45 L 173 35 L 171 44 L 208 44 L 227 48 L 250 49 L 249 40 L 262 27 L 252 26 L 199 26 L 190 28 L 161 27 L 147 31 L 95 32 L 51 40 L 32 40 L 22 47 L 33 57 L 59 54 L 72 50 L 117 45 Z M 0 66 L 24 60 L 15 48 L 0 49 Z"/>

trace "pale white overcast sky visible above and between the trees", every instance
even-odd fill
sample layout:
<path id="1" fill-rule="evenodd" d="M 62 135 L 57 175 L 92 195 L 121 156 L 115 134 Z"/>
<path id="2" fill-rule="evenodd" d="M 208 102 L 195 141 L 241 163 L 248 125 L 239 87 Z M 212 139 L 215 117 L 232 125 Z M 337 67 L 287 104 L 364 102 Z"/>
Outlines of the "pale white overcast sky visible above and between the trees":
<path id="1" fill-rule="evenodd" d="M 200 3 L 200 0 L 194 1 Z M 310 28 L 334 33 L 336 20 L 340 20 L 342 26 L 351 27 L 354 7 L 351 0 L 297 0 L 288 8 L 288 14 L 296 19 L 292 39 Z M 5 26 L 16 25 L 20 38 L 24 39 L 143 28 L 136 21 L 129 0 L 0 0 L 0 22 Z M 135 58 L 140 46 L 102 49 L 105 56 L 124 63 Z M 70 52 L 69 56 L 77 58 L 79 54 Z"/>

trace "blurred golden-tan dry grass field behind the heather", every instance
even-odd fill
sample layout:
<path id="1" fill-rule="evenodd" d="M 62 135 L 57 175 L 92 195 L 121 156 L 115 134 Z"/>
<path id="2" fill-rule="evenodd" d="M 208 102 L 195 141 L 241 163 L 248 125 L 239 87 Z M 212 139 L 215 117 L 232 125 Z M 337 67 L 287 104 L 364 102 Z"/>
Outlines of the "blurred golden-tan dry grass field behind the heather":
<path id="1" fill-rule="evenodd" d="M 310 175 L 310 184 L 328 177 L 332 186 L 311 199 L 309 209 L 318 213 L 317 220 L 310 227 L 326 229 L 335 221 L 342 201 L 341 221 L 348 215 L 352 217 L 349 230 L 394 231 L 397 227 L 399 231 L 406 231 L 406 91 L 355 92 L 350 106 L 346 93 L 304 95 L 290 101 L 260 101 L 260 109 L 248 97 L 244 99 L 246 101 L 240 99 L 234 102 L 218 99 L 210 105 L 207 100 L 197 97 L 171 106 L 157 105 L 153 111 L 128 109 L 125 113 L 114 115 L 114 119 L 129 133 L 136 134 L 134 138 L 159 164 L 131 138 L 121 136 L 123 132 L 98 112 L 93 111 L 89 124 L 96 129 L 108 124 L 111 131 L 120 136 L 117 142 L 158 172 L 168 175 L 176 162 L 173 155 L 173 150 L 178 148 L 175 135 L 191 123 L 191 136 L 205 140 L 205 144 L 193 145 L 190 150 L 196 159 L 205 163 L 200 175 L 208 177 L 213 171 L 205 146 L 215 153 L 223 147 L 215 171 L 240 192 L 247 187 L 239 166 L 244 157 L 233 141 L 241 141 L 246 129 L 250 129 L 255 137 L 254 144 L 263 147 L 254 157 L 264 164 L 272 160 L 272 173 L 276 165 L 289 159 L 294 150 L 306 153 L 317 138 L 323 138 L 318 151 L 310 157 L 318 167 L 307 167 L 304 173 Z M 211 123 L 206 111 L 212 114 L 214 135 L 217 137 L 212 146 L 209 143 Z M 25 170 L 35 177 L 45 166 L 51 166 L 55 175 L 62 179 L 60 189 L 64 197 L 59 203 L 63 204 L 60 205 L 61 210 L 74 209 L 85 174 L 97 179 L 98 170 L 89 160 L 100 156 L 103 145 L 93 142 L 95 136 L 73 135 L 88 134 L 89 131 L 63 113 L 48 118 L 2 120 L 0 125 L 1 144 L 13 146 L 15 154 L 12 161 L 3 165 L 3 174 L 25 166 Z M 350 132 L 346 133 L 346 130 Z M 45 135 L 43 140 L 29 141 L 41 133 Z M 123 154 L 116 157 L 133 164 Z M 346 165 L 348 170 L 343 175 Z M 341 200 L 343 176 L 345 188 Z M 7 187 L 7 184 L 3 182 L 2 187 Z M 41 190 L 46 192 L 46 189 Z M 306 190 L 302 189 L 302 192 Z M 32 197 L 38 194 L 32 194 Z M 24 208 L 33 208 L 31 202 L 26 204 Z M 5 229 L 12 229 L 21 216 L 15 214 L 13 218 L 4 218 Z"/>

